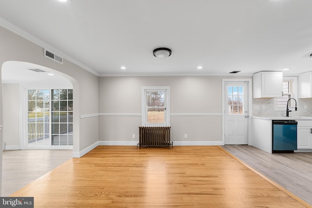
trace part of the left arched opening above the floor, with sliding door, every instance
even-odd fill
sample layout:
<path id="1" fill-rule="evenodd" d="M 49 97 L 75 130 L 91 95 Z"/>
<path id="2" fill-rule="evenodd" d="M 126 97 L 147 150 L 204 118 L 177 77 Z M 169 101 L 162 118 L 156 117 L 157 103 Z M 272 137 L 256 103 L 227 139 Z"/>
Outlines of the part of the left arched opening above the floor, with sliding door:
<path id="1" fill-rule="evenodd" d="M 2 87 L 4 149 L 73 149 L 70 80 L 37 64 L 6 61 Z"/>

